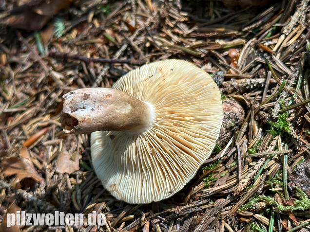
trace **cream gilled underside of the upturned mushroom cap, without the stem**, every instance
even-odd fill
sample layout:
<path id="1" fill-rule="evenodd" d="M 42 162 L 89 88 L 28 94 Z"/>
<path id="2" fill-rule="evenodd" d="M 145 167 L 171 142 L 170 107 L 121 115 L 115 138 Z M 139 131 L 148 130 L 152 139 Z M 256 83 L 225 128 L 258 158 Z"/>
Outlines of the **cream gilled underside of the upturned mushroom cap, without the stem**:
<path id="1" fill-rule="evenodd" d="M 97 177 L 129 203 L 174 195 L 215 146 L 223 121 L 219 89 L 208 73 L 176 59 L 143 65 L 112 88 L 146 103 L 153 117 L 145 130 L 91 134 Z"/>

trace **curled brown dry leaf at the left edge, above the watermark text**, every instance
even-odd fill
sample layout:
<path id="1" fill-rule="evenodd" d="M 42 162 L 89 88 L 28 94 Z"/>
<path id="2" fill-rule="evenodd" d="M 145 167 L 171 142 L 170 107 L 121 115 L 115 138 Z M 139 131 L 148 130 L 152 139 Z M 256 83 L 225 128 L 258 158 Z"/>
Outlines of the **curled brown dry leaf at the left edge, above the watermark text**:
<path id="1" fill-rule="evenodd" d="M 38 182 L 42 182 L 41 178 L 36 171 L 26 147 L 22 147 L 20 150 L 21 158 L 18 157 L 5 157 L 3 158 L 1 175 L 5 177 L 16 175 L 11 183 L 13 188 L 16 188 L 21 180 L 24 178 L 32 178 Z"/>

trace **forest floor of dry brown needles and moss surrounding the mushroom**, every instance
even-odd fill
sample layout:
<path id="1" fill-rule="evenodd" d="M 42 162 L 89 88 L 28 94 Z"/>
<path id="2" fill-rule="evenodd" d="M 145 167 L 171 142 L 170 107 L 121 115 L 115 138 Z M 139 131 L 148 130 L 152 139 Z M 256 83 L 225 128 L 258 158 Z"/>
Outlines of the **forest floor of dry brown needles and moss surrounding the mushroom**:
<path id="1" fill-rule="evenodd" d="M 0 5 L 2 227 L 15 205 L 27 213 L 96 210 L 107 217 L 102 227 L 15 231 L 310 230 L 308 0 L 234 8 L 226 0 L 56 2 Z M 48 14 L 46 4 L 55 4 Z M 8 23 L 29 12 L 50 21 L 28 17 L 25 31 Z M 234 117 L 225 125 L 232 129 L 182 191 L 130 205 L 97 179 L 89 136 L 62 132 L 61 96 L 109 88 L 127 71 L 168 58 L 222 79 L 227 115 Z"/>

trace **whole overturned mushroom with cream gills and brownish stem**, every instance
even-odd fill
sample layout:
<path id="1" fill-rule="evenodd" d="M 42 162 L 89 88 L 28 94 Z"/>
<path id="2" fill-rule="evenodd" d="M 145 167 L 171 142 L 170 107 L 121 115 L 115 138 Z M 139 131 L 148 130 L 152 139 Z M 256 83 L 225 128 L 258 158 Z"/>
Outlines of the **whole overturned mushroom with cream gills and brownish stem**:
<path id="1" fill-rule="evenodd" d="M 177 59 L 143 65 L 112 88 L 65 94 L 64 131 L 92 132 L 97 177 L 117 199 L 173 196 L 215 146 L 223 121 L 219 89 L 208 73 Z"/>

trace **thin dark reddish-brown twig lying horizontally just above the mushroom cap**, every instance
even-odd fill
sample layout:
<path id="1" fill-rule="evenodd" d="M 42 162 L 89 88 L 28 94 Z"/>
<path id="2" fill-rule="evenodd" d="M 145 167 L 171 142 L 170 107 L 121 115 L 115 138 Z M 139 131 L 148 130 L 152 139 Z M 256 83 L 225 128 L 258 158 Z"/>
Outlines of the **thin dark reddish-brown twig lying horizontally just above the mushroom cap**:
<path id="1" fill-rule="evenodd" d="M 48 54 L 50 57 L 54 58 L 61 58 L 61 59 L 72 59 L 72 60 L 81 60 L 85 63 L 109 63 L 109 64 L 132 64 L 132 65 L 141 65 L 144 64 L 145 61 L 143 60 L 134 60 L 134 59 L 109 59 L 109 58 L 93 58 L 93 57 L 86 57 L 83 55 L 78 54 L 68 54 L 68 53 L 54 53 L 50 52 Z"/>

